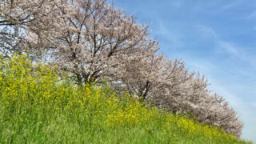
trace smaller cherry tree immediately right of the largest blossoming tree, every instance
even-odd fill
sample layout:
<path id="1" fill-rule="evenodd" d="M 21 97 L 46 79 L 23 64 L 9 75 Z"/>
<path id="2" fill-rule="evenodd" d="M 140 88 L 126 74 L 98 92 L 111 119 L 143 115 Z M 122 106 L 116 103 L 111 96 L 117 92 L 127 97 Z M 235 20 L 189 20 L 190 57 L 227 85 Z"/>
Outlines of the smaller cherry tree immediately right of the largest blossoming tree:
<path id="1" fill-rule="evenodd" d="M 111 71 L 108 74 L 111 74 L 110 78 L 114 78 L 115 87 L 125 86 L 130 94 L 136 94 L 142 101 L 152 95 L 153 91 L 159 92 L 181 85 L 194 75 L 185 70 L 184 62 L 179 60 L 173 62 L 162 54 L 154 54 L 154 51 L 137 53 L 134 57 L 126 58 L 125 61 L 112 70 L 113 74 Z M 118 80 L 121 80 L 120 83 Z M 166 85 L 163 86 L 162 83 Z M 182 90 L 185 90 L 184 88 Z"/>

